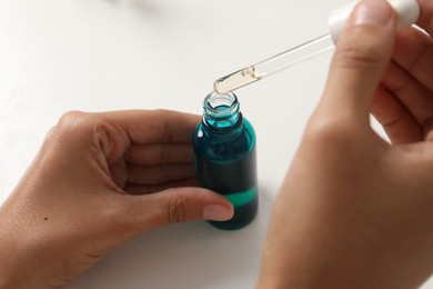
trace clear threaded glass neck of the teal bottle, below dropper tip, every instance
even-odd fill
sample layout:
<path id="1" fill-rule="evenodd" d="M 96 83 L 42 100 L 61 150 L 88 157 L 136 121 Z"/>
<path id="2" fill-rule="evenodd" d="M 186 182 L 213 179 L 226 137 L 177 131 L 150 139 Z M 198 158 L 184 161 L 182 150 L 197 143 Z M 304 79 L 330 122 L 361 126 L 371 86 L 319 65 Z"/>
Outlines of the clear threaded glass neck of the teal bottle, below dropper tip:
<path id="1" fill-rule="evenodd" d="M 218 94 L 211 92 L 203 102 L 203 124 L 212 130 L 230 131 L 241 127 L 242 113 L 233 92 Z"/>

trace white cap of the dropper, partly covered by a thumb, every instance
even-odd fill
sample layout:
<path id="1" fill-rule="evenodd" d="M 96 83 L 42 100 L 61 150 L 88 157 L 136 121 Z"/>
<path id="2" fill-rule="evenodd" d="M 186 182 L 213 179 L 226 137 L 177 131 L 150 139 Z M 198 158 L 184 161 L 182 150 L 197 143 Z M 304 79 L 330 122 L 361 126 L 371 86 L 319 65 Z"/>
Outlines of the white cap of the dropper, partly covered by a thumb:
<path id="1" fill-rule="evenodd" d="M 412 26 L 420 17 L 421 10 L 416 0 L 389 0 L 389 2 L 395 10 L 397 29 Z M 345 21 L 356 4 L 356 2 L 351 3 L 330 13 L 328 26 L 334 43 L 339 40 Z"/>

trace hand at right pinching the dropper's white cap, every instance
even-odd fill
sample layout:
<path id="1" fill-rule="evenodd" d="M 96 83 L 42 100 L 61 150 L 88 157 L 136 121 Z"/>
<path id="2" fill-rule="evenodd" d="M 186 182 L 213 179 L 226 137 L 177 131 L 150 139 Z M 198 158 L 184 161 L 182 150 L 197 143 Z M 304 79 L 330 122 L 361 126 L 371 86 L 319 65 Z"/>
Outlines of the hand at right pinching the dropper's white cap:
<path id="1" fill-rule="evenodd" d="M 433 2 L 420 4 L 432 33 Z M 433 43 L 407 29 L 394 48 L 394 27 L 384 0 L 351 16 L 276 200 L 259 288 L 416 288 L 432 275 Z M 373 132 L 372 109 L 402 144 Z"/>

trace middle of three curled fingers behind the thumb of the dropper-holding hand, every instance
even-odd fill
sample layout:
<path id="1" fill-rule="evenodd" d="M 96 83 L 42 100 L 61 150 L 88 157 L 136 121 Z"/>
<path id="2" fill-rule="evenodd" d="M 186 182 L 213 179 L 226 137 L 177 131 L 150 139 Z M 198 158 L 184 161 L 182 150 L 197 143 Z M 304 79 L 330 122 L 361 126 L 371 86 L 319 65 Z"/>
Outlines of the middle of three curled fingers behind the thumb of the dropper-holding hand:
<path id="1" fill-rule="evenodd" d="M 405 106 L 421 127 L 433 118 L 433 91 L 426 89 L 405 69 L 391 62 L 382 83 Z M 386 109 L 385 107 L 383 109 Z M 393 117 L 392 119 L 395 119 Z"/>

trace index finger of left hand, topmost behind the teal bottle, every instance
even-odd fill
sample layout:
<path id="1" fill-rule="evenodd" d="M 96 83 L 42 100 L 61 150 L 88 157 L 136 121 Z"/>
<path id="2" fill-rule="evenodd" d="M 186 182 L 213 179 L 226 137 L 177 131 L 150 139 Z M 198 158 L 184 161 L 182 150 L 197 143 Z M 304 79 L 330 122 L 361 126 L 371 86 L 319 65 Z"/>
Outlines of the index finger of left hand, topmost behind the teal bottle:
<path id="1" fill-rule="evenodd" d="M 132 143 L 190 142 L 199 116 L 169 110 L 128 110 L 101 113 L 117 123 Z"/>

